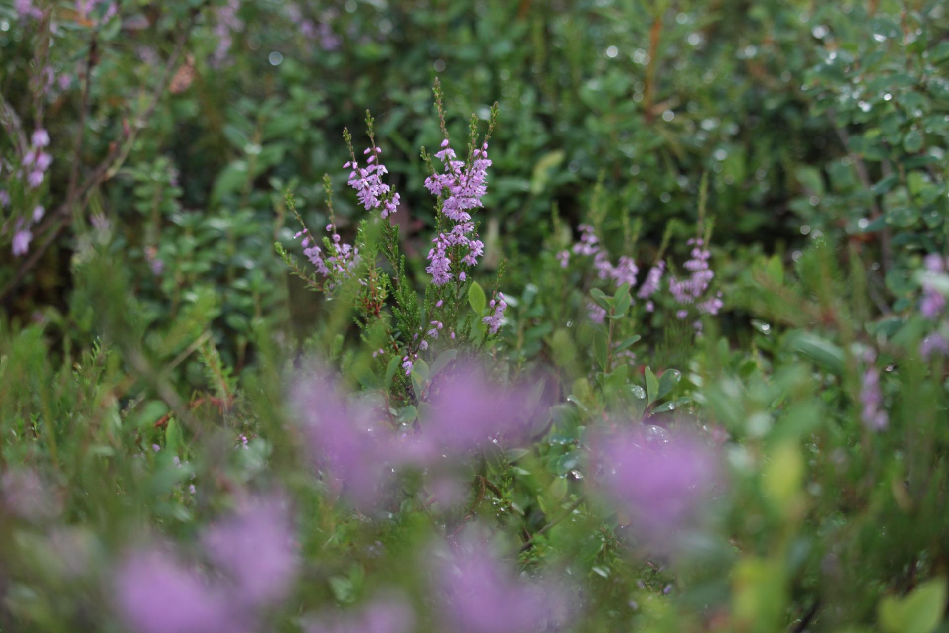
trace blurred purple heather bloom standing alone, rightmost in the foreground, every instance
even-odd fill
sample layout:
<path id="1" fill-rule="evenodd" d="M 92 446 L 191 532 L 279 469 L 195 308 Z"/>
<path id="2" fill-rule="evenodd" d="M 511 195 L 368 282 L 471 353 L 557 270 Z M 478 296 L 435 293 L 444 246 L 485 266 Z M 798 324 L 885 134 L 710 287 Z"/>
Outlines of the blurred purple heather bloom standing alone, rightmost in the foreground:
<path id="1" fill-rule="evenodd" d="M 714 449 L 697 436 L 658 426 L 625 427 L 595 438 L 595 481 L 654 547 L 693 527 L 716 486 Z"/>

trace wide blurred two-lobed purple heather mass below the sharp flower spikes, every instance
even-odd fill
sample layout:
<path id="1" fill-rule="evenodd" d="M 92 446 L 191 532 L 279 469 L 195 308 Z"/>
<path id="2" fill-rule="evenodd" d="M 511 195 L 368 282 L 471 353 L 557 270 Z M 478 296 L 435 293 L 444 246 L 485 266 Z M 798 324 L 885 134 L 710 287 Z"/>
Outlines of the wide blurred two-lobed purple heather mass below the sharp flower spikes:
<path id="1" fill-rule="evenodd" d="M 427 385 L 419 425 L 392 424 L 381 402 L 358 400 L 313 368 L 292 388 L 297 419 L 330 488 L 361 510 L 384 498 L 399 468 L 440 468 L 497 442 L 516 444 L 547 410 L 525 384 L 496 385 L 474 365 L 447 368 Z"/>

